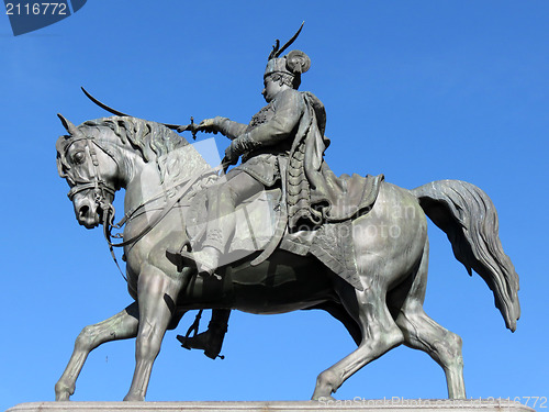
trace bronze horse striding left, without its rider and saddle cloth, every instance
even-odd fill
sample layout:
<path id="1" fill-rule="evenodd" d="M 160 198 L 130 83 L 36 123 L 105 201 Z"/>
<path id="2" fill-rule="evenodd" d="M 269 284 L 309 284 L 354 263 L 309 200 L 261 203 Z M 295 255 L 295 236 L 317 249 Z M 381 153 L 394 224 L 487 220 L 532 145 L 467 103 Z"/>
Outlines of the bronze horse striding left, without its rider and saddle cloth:
<path id="1" fill-rule="evenodd" d="M 448 397 L 464 399 L 461 338 L 423 309 L 429 252 L 426 216 L 448 235 L 455 257 L 469 274 L 474 270 L 493 291 L 506 327 L 516 329 L 518 276 L 502 248 L 492 201 L 471 183 L 439 180 L 407 190 L 383 181 L 371 210 L 347 222 L 358 287 L 314 256 L 280 247 L 257 266 L 250 261 L 261 250 L 228 263 L 220 280 L 198 276 L 195 268 L 169 258 L 169 250 L 188 242 L 186 213 L 193 197 L 217 181 L 193 145 L 159 123 L 132 116 L 79 126 L 59 118 L 68 135 L 56 143 L 57 166 L 69 183 L 78 222 L 87 229 L 103 224 L 110 232 L 114 193 L 125 189 L 123 258 L 134 302 L 78 335 L 55 385 L 56 400 L 74 394 L 91 350 L 135 337 L 135 370 L 124 400 L 144 401 L 166 331 L 197 309 L 258 314 L 323 309 L 339 320 L 357 348 L 318 375 L 313 400 L 333 399 L 350 376 L 401 344 L 427 353 L 446 374 Z M 386 233 L 389 227 L 395 235 Z"/>

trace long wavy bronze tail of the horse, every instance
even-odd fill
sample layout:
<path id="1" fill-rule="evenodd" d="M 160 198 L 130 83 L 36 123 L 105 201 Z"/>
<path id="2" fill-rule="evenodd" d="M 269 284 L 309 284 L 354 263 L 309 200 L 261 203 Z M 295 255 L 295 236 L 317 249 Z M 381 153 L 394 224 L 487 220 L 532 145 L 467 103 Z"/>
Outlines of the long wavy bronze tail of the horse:
<path id="1" fill-rule="evenodd" d="M 502 248 L 492 200 L 474 185 L 438 180 L 412 190 L 433 222 L 451 243 L 453 255 L 469 275 L 478 272 L 494 293 L 505 324 L 516 330 L 520 316 L 518 275 Z"/>

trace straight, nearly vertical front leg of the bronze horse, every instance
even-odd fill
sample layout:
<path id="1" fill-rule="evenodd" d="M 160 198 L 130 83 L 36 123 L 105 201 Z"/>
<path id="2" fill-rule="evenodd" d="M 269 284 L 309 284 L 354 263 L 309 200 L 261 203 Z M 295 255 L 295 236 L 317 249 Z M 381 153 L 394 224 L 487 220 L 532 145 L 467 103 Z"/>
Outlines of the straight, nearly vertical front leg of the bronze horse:
<path id="1" fill-rule="evenodd" d="M 135 371 L 125 401 L 144 401 L 153 364 L 160 352 L 164 334 L 176 310 L 182 281 L 148 266 L 139 275 L 137 301 L 139 330 L 135 344 Z"/>

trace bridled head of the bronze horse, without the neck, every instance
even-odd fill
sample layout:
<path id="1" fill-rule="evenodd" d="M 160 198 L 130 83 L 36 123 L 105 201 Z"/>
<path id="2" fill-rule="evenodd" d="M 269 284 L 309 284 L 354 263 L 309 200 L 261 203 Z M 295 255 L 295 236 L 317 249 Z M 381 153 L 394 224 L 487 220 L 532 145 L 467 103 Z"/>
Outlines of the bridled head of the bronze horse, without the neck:
<path id="1" fill-rule="evenodd" d="M 69 134 L 57 140 L 57 169 L 70 187 L 68 197 L 78 223 L 92 229 L 111 214 L 114 192 L 120 189 L 119 166 L 105 147 L 104 130 L 77 127 L 58 116 Z"/>

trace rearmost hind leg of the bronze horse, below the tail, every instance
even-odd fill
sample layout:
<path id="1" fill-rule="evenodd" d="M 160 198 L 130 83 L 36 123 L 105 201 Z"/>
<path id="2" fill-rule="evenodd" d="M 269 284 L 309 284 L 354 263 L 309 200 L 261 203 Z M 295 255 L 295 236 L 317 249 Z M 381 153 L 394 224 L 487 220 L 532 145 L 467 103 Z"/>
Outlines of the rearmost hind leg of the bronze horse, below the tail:
<path id="1" fill-rule="evenodd" d="M 442 367 L 446 374 L 448 397 L 450 399 L 464 399 L 461 337 L 440 326 L 423 310 L 427 283 L 428 249 L 428 242 L 426 242 L 419 269 L 395 321 L 404 334 L 406 346 L 426 352 Z"/>

